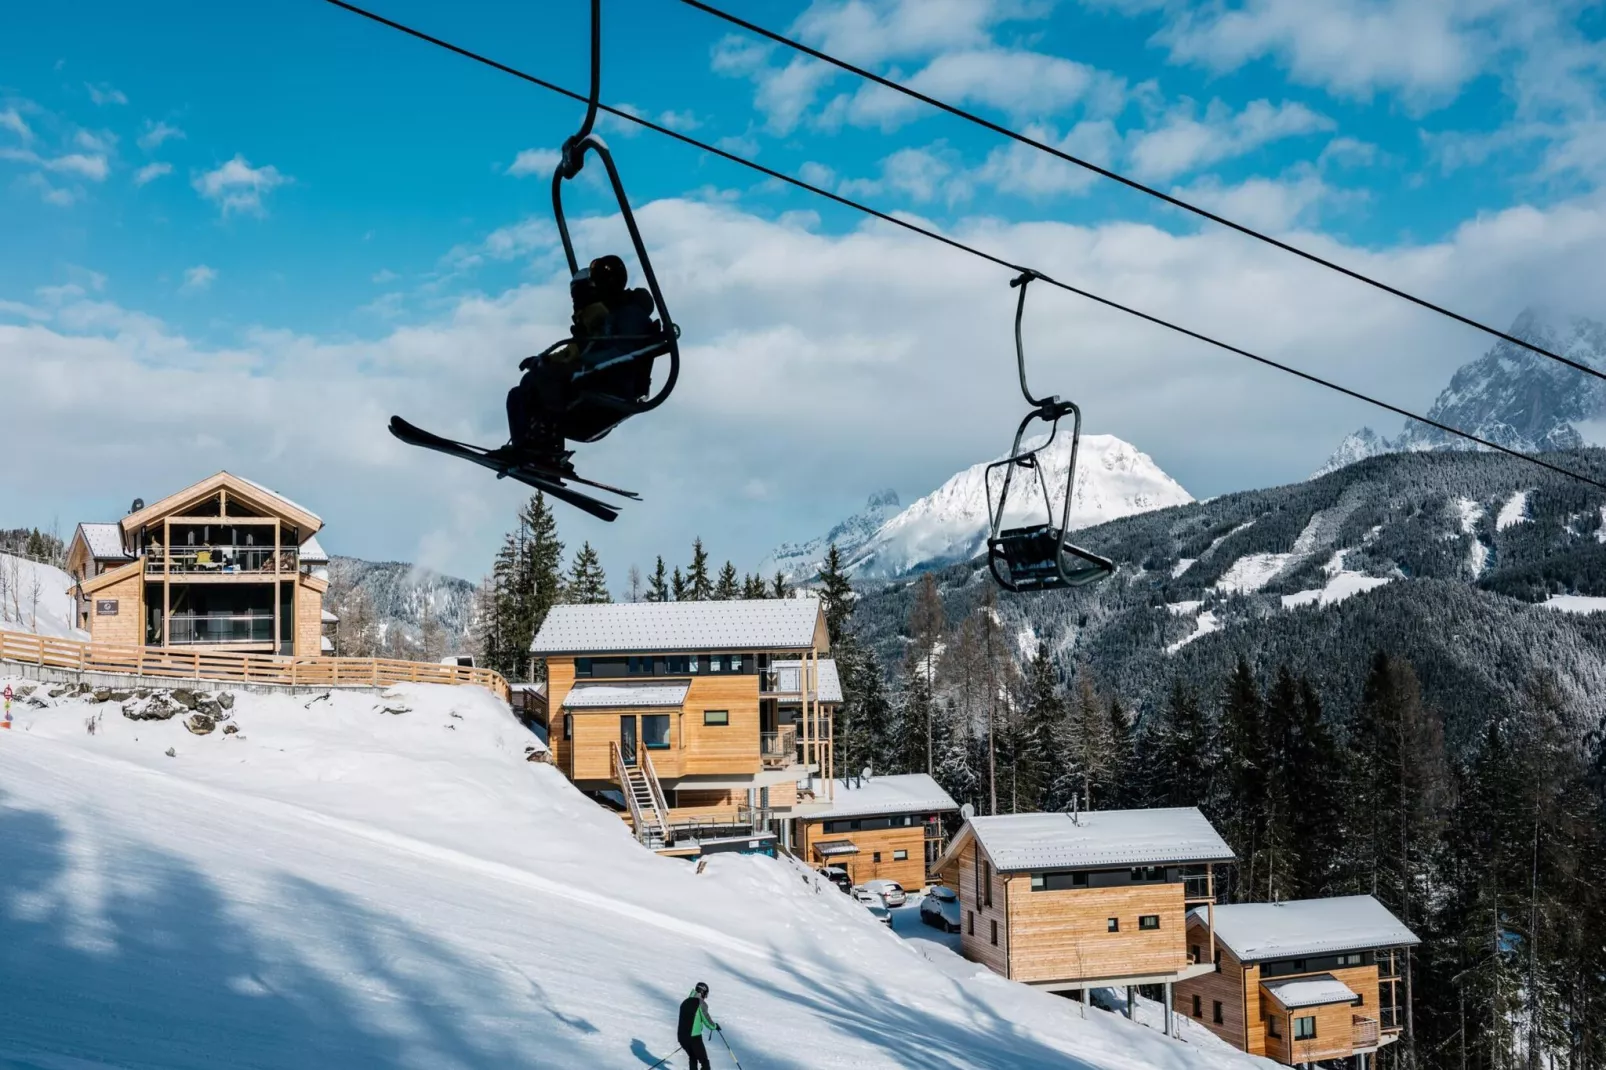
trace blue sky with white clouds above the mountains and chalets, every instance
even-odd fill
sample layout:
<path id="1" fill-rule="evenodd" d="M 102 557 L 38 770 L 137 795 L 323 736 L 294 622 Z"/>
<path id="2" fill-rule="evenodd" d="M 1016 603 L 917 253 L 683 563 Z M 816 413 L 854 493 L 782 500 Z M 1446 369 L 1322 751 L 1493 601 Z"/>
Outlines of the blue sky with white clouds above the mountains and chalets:
<path id="1" fill-rule="evenodd" d="M 376 6 L 585 82 L 581 0 Z M 731 6 L 1482 318 L 1606 312 L 1585 283 L 1606 254 L 1598 5 Z M 607 0 L 604 19 L 609 101 L 1269 355 L 1425 408 L 1484 347 L 673 0 Z M 393 447 L 384 416 L 499 440 L 519 358 L 567 318 L 548 177 L 577 119 L 312 0 L 8 14 L 0 437 L 22 463 L 0 471 L 0 524 L 116 516 L 231 468 L 321 508 L 337 551 L 483 572 L 519 492 Z M 565 516 L 615 577 L 694 533 L 752 567 L 1005 445 L 1001 272 L 652 133 L 604 137 L 687 339 L 652 426 L 581 455 L 650 498 L 610 529 Z M 617 244 L 597 185 L 573 212 L 588 247 Z M 1196 495 L 1299 479 L 1378 423 L 1034 300 L 1058 392 Z M 108 392 L 119 415 L 92 416 Z"/>

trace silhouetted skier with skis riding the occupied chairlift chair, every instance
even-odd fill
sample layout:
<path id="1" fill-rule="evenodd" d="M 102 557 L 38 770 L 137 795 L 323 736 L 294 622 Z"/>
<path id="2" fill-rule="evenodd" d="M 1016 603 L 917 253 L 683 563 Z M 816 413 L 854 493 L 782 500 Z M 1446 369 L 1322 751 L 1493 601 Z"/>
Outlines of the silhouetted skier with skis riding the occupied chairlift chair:
<path id="1" fill-rule="evenodd" d="M 593 133 L 602 74 L 601 10 L 601 0 L 591 0 L 591 96 L 586 117 L 580 130 L 564 141 L 552 172 L 552 215 L 570 275 L 570 334 L 520 361 L 524 376 L 507 392 L 507 445 L 483 450 L 432 435 L 400 416 L 390 419 L 390 434 L 413 445 L 483 464 L 498 477 L 511 476 L 599 519 L 612 521 L 618 516 L 613 506 L 567 484 L 586 484 L 633 500 L 639 500 L 639 495 L 581 479 L 575 472 L 569 442 L 597 442 L 625 419 L 662 405 L 679 379 L 681 350 L 679 328 L 663 302 L 652 260 L 613 165 L 613 154 Z M 597 257 L 585 268 L 575 257 L 564 217 L 564 182 L 580 174 L 586 153 L 596 153 L 607 170 L 646 288 L 630 288 L 630 273 L 618 255 Z M 670 370 L 658 392 L 650 394 L 654 365 L 660 357 L 670 358 Z"/>

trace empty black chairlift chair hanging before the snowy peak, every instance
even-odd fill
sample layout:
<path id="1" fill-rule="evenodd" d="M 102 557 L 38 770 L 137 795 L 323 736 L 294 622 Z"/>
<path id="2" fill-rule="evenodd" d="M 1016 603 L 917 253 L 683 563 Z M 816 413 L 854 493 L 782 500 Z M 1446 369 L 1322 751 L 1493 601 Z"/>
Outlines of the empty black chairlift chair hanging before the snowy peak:
<path id="1" fill-rule="evenodd" d="M 1015 305 L 1015 363 L 1020 370 L 1020 392 L 1026 395 L 1026 403 L 1033 406 L 1026 418 L 1015 429 L 1015 442 L 1009 456 L 988 464 L 983 482 L 988 493 L 988 569 L 993 578 L 1007 591 L 1055 591 L 1071 586 L 1084 586 L 1105 578 L 1115 572 L 1115 562 L 1108 557 L 1076 546 L 1066 538 L 1071 525 L 1071 500 L 1076 493 L 1076 451 L 1082 437 L 1082 410 L 1074 402 L 1063 402 L 1058 397 L 1034 397 L 1026 386 L 1026 352 L 1021 344 L 1021 317 L 1026 310 L 1026 286 L 1036 273 L 1026 272 L 1010 281 L 1020 288 L 1020 300 Z M 1044 459 L 1054 439 L 1060 434 L 1060 421 L 1071 416 L 1071 461 L 1065 476 L 1065 503 L 1060 516 L 1054 516 L 1054 501 L 1049 493 L 1049 480 L 1044 476 Z M 1026 429 L 1041 419 L 1049 426 L 1049 434 L 1041 445 L 1021 450 Z M 993 474 L 1004 469 L 1002 487 L 997 504 L 993 498 Z M 1042 495 L 1044 522 L 1021 527 L 1004 527 L 1005 506 L 1009 504 L 1010 485 L 1015 469 L 1026 469 L 1036 474 L 1037 490 Z M 1021 479 L 1029 479 L 1021 476 Z M 1058 519 L 1058 524 L 1055 524 Z"/>

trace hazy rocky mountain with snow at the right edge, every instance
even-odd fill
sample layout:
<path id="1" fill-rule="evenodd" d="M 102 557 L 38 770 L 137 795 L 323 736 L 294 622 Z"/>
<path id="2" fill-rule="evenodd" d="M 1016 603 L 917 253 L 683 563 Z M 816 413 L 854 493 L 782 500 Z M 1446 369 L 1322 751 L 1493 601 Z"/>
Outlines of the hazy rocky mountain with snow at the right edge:
<path id="1" fill-rule="evenodd" d="M 1508 334 L 1590 368 L 1606 368 L 1606 325 L 1595 320 L 1527 308 Z M 1500 341 L 1450 378 L 1428 416 L 1513 450 L 1572 450 L 1606 442 L 1606 387 Z M 1362 427 L 1339 443 L 1315 476 L 1378 453 L 1465 448 L 1469 448 L 1465 439 L 1416 421 L 1407 421 L 1394 439 Z"/>

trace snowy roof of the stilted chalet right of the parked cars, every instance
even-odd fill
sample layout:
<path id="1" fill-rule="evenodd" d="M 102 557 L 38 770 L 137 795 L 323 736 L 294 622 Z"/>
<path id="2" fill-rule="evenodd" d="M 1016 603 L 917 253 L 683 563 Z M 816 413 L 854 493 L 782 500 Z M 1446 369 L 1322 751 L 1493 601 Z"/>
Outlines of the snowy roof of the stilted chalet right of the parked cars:
<path id="1" fill-rule="evenodd" d="M 1198 807 L 1013 813 L 972 818 L 970 829 L 1001 872 L 1233 861 Z"/>

